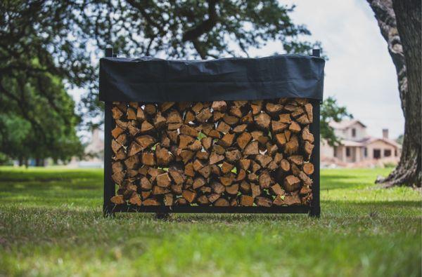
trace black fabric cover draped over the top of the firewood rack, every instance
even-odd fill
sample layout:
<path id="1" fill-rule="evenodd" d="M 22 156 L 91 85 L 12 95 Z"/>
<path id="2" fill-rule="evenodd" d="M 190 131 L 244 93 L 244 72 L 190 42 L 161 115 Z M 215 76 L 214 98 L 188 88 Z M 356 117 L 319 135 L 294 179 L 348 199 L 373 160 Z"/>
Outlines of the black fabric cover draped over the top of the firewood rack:
<path id="1" fill-rule="evenodd" d="M 217 60 L 101 58 L 100 100 L 322 100 L 324 64 L 322 58 L 304 55 Z"/>

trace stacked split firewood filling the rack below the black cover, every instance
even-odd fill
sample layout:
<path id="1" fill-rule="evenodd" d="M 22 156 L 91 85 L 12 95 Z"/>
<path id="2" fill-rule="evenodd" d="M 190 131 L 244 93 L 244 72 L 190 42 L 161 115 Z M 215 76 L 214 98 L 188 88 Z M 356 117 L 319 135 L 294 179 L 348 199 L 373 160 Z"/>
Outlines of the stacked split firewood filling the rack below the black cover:
<path id="1" fill-rule="evenodd" d="M 111 112 L 115 204 L 270 207 L 312 200 L 307 99 L 113 102 Z"/>

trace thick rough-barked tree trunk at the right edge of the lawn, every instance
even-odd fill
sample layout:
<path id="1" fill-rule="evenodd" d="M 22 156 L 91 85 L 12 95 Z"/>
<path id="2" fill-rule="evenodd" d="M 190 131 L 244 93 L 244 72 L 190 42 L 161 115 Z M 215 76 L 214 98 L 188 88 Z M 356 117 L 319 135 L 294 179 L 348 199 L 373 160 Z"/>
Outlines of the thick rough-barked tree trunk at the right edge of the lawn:
<path id="1" fill-rule="evenodd" d="M 385 187 L 421 187 L 421 1 L 368 0 L 397 72 L 404 114 L 402 156 Z"/>

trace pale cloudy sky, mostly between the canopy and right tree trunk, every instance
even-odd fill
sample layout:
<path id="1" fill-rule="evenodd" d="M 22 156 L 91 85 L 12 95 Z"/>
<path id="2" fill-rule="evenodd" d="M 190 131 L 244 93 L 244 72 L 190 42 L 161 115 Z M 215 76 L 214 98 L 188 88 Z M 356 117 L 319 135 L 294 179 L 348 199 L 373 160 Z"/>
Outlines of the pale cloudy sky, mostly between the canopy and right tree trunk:
<path id="1" fill-rule="evenodd" d="M 382 129 L 397 138 L 404 130 L 395 67 L 388 54 L 373 12 L 364 0 L 283 0 L 295 4 L 290 16 L 296 24 L 307 25 L 311 40 L 321 41 L 328 61 L 324 97 L 335 96 L 368 128 L 369 135 L 381 137 Z M 281 43 L 271 42 L 249 54 L 266 56 L 281 52 Z M 72 90 L 79 100 L 82 90 Z"/>

